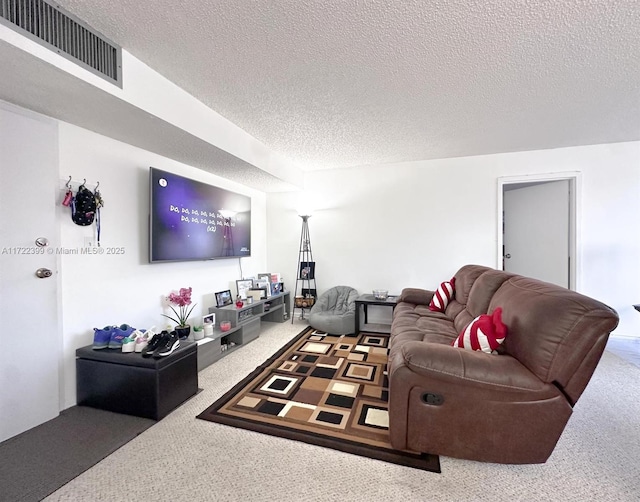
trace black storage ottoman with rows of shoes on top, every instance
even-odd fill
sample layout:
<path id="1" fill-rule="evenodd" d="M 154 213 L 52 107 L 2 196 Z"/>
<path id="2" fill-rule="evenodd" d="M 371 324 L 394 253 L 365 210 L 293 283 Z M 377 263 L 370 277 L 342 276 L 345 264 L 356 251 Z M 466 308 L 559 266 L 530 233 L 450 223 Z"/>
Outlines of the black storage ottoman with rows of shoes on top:
<path id="1" fill-rule="evenodd" d="M 115 349 L 76 350 L 78 404 L 161 420 L 198 392 L 198 345 L 161 359 Z"/>

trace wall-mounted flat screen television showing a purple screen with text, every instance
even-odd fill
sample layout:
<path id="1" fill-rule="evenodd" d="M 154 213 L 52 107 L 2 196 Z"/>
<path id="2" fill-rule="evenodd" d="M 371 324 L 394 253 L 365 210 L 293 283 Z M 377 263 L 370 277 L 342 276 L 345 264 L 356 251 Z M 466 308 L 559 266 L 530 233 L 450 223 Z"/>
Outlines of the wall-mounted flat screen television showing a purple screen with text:
<path id="1" fill-rule="evenodd" d="M 151 263 L 251 256 L 251 197 L 155 167 L 149 180 Z"/>

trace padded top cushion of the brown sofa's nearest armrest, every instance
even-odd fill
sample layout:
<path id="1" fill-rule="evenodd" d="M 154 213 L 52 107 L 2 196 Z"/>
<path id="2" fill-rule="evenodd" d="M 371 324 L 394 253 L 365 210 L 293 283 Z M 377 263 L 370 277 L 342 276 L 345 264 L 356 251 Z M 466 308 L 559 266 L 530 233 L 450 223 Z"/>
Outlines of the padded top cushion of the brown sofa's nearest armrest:
<path id="1" fill-rule="evenodd" d="M 394 351 L 393 373 L 406 367 L 416 377 L 503 391 L 542 391 L 542 382 L 517 359 L 460 349 L 440 343 L 406 342 Z"/>

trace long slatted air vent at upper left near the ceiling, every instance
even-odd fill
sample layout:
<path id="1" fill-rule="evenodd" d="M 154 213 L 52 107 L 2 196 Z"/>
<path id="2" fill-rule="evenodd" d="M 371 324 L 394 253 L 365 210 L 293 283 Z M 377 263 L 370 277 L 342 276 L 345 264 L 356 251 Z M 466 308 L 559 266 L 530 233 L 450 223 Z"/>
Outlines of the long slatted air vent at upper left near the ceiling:
<path id="1" fill-rule="evenodd" d="M 0 22 L 122 87 L 122 49 L 44 0 L 0 0 Z"/>

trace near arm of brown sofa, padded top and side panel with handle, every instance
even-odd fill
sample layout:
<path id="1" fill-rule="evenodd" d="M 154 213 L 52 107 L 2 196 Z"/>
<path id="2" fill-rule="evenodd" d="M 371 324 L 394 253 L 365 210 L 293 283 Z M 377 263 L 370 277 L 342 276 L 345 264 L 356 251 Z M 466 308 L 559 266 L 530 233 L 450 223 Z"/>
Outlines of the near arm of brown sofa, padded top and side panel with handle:
<path id="1" fill-rule="evenodd" d="M 558 388 L 509 355 L 407 341 L 389 356 L 389 440 L 397 449 L 542 463 L 571 416 Z"/>

